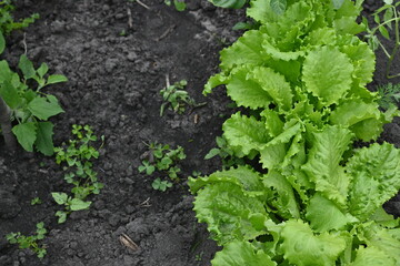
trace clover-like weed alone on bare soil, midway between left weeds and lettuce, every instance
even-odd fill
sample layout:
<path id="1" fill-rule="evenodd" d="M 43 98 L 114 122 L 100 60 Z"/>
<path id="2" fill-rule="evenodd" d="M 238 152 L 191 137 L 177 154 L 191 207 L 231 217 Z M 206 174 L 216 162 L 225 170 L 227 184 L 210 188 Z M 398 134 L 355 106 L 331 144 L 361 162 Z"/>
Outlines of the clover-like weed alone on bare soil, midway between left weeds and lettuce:
<path id="1" fill-rule="evenodd" d="M 153 174 L 156 171 L 163 172 L 171 181 L 179 180 L 180 167 L 177 166 L 179 161 L 186 158 L 183 147 L 170 149 L 168 144 L 152 142 L 146 144 L 149 147 L 148 160 L 142 161 L 142 165 L 138 167 L 140 173 L 146 172 L 147 175 Z M 168 181 L 156 178 L 151 185 L 154 190 L 166 191 L 172 186 Z"/>

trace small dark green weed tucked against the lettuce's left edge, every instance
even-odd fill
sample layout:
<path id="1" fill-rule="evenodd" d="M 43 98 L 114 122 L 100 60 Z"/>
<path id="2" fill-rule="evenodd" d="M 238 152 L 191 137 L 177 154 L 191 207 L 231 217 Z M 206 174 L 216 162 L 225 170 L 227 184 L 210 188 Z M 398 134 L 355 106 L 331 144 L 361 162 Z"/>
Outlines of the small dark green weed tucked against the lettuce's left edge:
<path id="1" fill-rule="evenodd" d="M 232 165 L 244 164 L 242 158 L 234 156 L 234 152 L 229 149 L 228 142 L 223 136 L 217 136 L 216 142 L 218 147 L 211 149 L 209 153 L 206 154 L 204 160 L 210 160 L 218 155 L 221 157 L 222 166 L 224 168 L 229 168 Z"/>

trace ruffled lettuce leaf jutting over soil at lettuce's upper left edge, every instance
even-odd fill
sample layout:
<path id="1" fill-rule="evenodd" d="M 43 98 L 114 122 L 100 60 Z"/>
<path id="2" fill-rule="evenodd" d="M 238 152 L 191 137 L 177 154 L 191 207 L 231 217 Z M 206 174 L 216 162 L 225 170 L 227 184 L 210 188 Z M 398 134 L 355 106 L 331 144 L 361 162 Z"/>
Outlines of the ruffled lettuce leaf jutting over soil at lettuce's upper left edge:
<path id="1" fill-rule="evenodd" d="M 254 64 L 262 65 L 269 59 L 264 54 L 262 40 L 264 35 L 258 30 L 250 30 L 239 38 L 231 47 L 223 49 L 220 54 L 220 68 L 229 71 L 236 65 Z"/>

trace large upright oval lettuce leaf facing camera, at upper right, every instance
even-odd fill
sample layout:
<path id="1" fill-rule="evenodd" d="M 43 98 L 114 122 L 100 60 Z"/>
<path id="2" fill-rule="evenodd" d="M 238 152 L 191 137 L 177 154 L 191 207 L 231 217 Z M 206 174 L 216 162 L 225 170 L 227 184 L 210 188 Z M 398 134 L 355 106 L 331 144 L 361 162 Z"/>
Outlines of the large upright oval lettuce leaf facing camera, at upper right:
<path id="1" fill-rule="evenodd" d="M 321 47 L 311 51 L 304 60 L 306 89 L 324 105 L 339 103 L 350 90 L 353 66 L 350 59 L 337 48 Z"/>

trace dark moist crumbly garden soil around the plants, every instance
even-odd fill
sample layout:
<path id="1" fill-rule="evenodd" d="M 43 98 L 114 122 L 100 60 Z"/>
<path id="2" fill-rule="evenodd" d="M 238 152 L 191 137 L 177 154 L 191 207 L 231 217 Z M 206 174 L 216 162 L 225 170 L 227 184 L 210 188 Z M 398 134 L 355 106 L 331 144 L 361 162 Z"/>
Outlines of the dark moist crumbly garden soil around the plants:
<path id="1" fill-rule="evenodd" d="M 104 188 L 90 196 L 90 209 L 74 212 L 64 224 L 58 224 L 54 213 L 61 207 L 50 193 L 71 188 L 63 180 L 62 166 L 54 157 L 22 150 L 10 156 L 1 140 L 0 265 L 201 266 L 210 265 L 219 249 L 206 226 L 197 223 L 186 181 L 193 171 L 210 174 L 221 167 L 220 160 L 203 157 L 216 146 L 221 124 L 233 110 L 223 90 L 208 98 L 201 92 L 218 71 L 218 52 L 241 34 L 231 28 L 244 20 L 244 11 L 216 9 L 206 0 L 187 1 L 183 12 L 163 0 L 141 2 L 150 9 L 124 0 L 18 3 L 17 17 L 38 12 L 41 18 L 7 39 L 2 59 L 16 66 L 19 55 L 27 52 L 37 66 L 46 62 L 50 71 L 69 79 L 47 89 L 66 111 L 52 119 L 54 144 L 72 139 L 72 124 L 90 125 L 94 134 L 103 135 L 94 170 Z M 377 8 L 370 2 L 368 12 Z M 378 53 L 372 90 L 388 83 L 384 61 Z M 166 111 L 160 116 L 159 92 L 167 75 L 171 83 L 187 80 L 189 94 L 207 104 L 188 108 L 183 114 Z M 399 124 L 397 119 L 386 125 L 380 141 L 400 146 Z M 151 187 L 158 175 L 137 170 L 150 142 L 181 145 L 187 154 L 179 165 L 180 182 L 167 192 Z M 100 147 L 101 142 L 94 145 Z M 32 206 L 34 197 L 43 203 Z M 399 197 L 384 207 L 400 216 Z M 42 242 L 48 250 L 43 259 L 7 243 L 8 233 L 31 235 L 39 222 L 49 231 Z M 139 249 L 122 245 L 119 237 L 123 234 Z"/>

